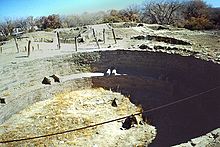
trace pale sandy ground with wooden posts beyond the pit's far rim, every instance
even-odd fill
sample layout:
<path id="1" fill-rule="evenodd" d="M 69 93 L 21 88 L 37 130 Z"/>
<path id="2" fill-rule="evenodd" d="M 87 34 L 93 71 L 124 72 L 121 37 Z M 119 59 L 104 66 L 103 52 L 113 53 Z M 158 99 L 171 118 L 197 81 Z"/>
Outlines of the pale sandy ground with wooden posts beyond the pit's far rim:
<path id="1" fill-rule="evenodd" d="M 151 50 L 163 49 L 166 52 L 187 54 L 193 53 L 199 58 L 219 62 L 220 58 L 220 35 L 218 31 L 190 31 L 171 26 L 165 29 L 158 29 L 159 25 L 144 24 L 143 27 L 124 27 L 121 23 L 113 27 L 109 24 L 86 26 L 86 28 L 56 29 L 53 32 L 33 32 L 24 34 L 18 39 L 20 52 L 17 53 L 14 39 L 2 45 L 0 53 L 0 65 L 11 62 L 23 62 L 36 58 L 45 58 L 55 55 L 70 54 L 76 52 L 74 36 L 80 34 L 83 42 L 78 43 L 78 52 L 98 49 L 92 29 L 95 30 L 96 38 L 101 49 L 138 49 L 142 44 L 147 45 Z M 112 28 L 116 36 L 114 41 Z M 79 29 L 79 30 L 78 30 Z M 103 39 L 105 29 L 105 42 Z M 56 32 L 59 32 L 61 49 L 58 49 Z M 166 43 L 163 40 L 131 39 L 135 36 L 154 35 L 168 38 L 175 38 L 191 43 L 191 45 L 179 45 Z M 27 58 L 27 44 L 31 40 L 31 55 Z M 185 52 L 184 52 L 185 51 Z"/>

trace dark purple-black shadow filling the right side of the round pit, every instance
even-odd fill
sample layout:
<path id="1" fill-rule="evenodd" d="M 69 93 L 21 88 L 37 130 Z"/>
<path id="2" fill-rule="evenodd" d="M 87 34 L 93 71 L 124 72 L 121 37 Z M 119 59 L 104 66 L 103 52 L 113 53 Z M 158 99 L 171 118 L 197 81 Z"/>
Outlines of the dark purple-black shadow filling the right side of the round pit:
<path id="1" fill-rule="evenodd" d="M 130 96 L 144 110 L 192 96 L 220 84 L 220 65 L 194 57 L 145 51 L 102 52 L 93 71 L 114 66 L 126 76 L 94 77 L 93 87 Z M 220 127 L 220 90 L 144 114 L 156 127 L 151 146 L 171 146 Z"/>

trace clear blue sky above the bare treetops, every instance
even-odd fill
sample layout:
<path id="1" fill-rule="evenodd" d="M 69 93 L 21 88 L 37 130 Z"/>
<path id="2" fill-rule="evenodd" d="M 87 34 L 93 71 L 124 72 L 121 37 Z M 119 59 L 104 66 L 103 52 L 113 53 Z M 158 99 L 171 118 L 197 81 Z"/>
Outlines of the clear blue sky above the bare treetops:
<path id="1" fill-rule="evenodd" d="M 5 18 L 48 16 L 50 14 L 81 14 L 109 9 L 123 9 L 147 0 L 0 0 L 0 21 Z M 220 0 L 205 0 L 220 7 Z"/>

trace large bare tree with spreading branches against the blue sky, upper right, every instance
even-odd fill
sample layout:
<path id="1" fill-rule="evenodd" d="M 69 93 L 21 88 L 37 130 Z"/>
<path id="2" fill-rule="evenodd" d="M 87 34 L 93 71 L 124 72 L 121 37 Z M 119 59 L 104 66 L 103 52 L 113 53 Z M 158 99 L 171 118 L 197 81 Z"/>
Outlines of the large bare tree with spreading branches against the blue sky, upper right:
<path id="1" fill-rule="evenodd" d="M 143 18 L 149 23 L 173 24 L 178 20 L 182 4 L 177 0 L 145 2 Z"/>

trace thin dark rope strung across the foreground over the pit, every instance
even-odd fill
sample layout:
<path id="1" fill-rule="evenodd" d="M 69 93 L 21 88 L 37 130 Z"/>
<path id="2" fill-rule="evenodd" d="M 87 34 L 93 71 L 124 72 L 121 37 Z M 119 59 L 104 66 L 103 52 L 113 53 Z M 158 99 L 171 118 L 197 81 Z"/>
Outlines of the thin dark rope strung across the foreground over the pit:
<path id="1" fill-rule="evenodd" d="M 132 115 L 140 115 L 140 114 L 143 114 L 143 113 L 148 113 L 148 112 L 152 112 L 152 111 L 155 111 L 155 110 L 159 110 L 159 109 L 162 109 L 162 108 L 165 108 L 165 107 L 168 107 L 168 106 L 171 106 L 171 105 L 174 105 L 174 104 L 177 104 L 177 103 L 181 103 L 183 101 L 187 101 L 187 100 L 190 100 L 192 98 L 204 95 L 206 93 L 210 93 L 211 91 L 214 91 L 214 90 L 219 89 L 219 88 L 220 88 L 220 86 L 216 86 L 215 88 L 212 88 L 212 89 L 209 89 L 207 91 L 203 91 L 203 92 L 188 96 L 188 97 L 183 98 L 181 100 L 177 100 L 177 101 L 165 104 L 165 105 L 161 105 L 159 107 L 152 108 L 152 109 L 149 109 L 149 110 L 146 110 L 146 111 L 143 111 L 143 112 L 136 112 Z M 70 133 L 70 132 L 84 130 L 84 129 L 87 129 L 87 128 L 93 128 L 93 127 L 104 125 L 104 124 L 107 124 L 107 123 L 119 121 L 119 120 L 125 119 L 129 116 L 131 116 L 131 115 L 127 115 L 127 116 L 120 117 L 120 118 L 117 118 L 117 119 L 112 119 L 112 120 L 104 121 L 104 122 L 101 122 L 101 123 L 97 123 L 97 124 L 93 124 L 93 125 L 89 125 L 89 126 L 85 126 L 85 127 L 81 127 L 81 128 L 76 128 L 76 129 L 71 129 L 71 130 L 66 130 L 66 131 L 62 131 L 62 132 L 56 132 L 56 133 L 51 133 L 51 134 L 46 134 L 46 135 L 41 135 L 41 136 L 29 137 L 29 138 L 21 138 L 21 139 L 0 141 L 0 143 L 20 142 L 20 141 L 33 140 L 33 139 L 38 139 L 38 138 L 45 138 L 45 137 L 55 136 L 55 135 L 60 135 L 60 134 L 66 134 L 66 133 Z"/>

